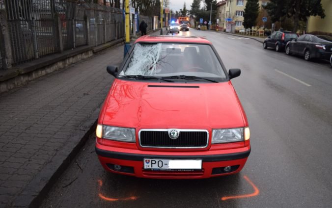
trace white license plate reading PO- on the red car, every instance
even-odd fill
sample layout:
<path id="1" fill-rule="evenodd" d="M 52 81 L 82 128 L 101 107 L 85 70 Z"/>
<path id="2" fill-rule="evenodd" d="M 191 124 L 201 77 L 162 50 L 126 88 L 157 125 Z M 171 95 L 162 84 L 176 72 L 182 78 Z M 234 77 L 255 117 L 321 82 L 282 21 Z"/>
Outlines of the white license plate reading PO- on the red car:
<path id="1" fill-rule="evenodd" d="M 201 170 L 201 159 L 155 159 L 144 158 L 144 169 L 153 170 Z"/>

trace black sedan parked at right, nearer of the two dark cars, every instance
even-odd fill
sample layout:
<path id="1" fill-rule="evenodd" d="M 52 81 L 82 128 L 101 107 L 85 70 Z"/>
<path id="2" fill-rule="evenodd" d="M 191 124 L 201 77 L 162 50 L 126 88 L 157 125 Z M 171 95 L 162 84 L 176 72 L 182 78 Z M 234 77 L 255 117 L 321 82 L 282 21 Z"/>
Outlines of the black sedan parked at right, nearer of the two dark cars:
<path id="1" fill-rule="evenodd" d="M 303 55 L 305 60 L 320 58 L 330 60 L 332 54 L 332 36 L 304 34 L 289 41 L 286 54 Z"/>

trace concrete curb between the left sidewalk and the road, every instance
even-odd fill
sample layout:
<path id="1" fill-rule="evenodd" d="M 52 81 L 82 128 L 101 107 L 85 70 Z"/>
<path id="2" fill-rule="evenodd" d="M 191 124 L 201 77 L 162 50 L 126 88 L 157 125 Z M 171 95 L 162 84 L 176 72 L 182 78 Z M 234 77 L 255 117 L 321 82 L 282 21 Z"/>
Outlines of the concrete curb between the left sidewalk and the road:
<path id="1" fill-rule="evenodd" d="M 89 135 L 95 130 L 100 107 L 79 127 L 71 138 L 25 187 L 11 207 L 38 208 L 49 190 L 79 153 Z"/>

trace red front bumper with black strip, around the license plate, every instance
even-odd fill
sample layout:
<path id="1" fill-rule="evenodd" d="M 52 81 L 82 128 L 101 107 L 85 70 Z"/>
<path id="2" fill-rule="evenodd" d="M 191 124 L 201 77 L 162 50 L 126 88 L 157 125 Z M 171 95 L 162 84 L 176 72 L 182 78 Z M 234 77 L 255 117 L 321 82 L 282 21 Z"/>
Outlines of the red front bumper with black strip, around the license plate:
<path id="1" fill-rule="evenodd" d="M 102 146 L 101 146 L 102 147 Z M 118 148 L 116 148 L 118 149 Z M 121 148 L 122 149 L 122 148 Z M 132 151 L 132 150 L 129 150 Z M 250 154 L 250 146 L 238 148 L 232 153 L 229 150 L 209 150 L 202 152 L 155 152 L 155 151 L 133 151 L 121 152 L 103 150 L 96 147 L 96 153 L 103 167 L 110 172 L 136 176 L 139 178 L 155 179 L 203 179 L 222 175 L 238 173 L 244 167 Z M 138 153 L 139 152 L 139 153 Z M 164 155 L 163 155 L 164 154 Z M 187 155 L 186 155 L 187 154 Z M 159 159 L 202 159 L 202 170 L 199 171 L 150 171 L 143 169 L 143 158 Z M 114 165 L 121 165 L 123 169 L 115 170 Z M 232 166 L 230 172 L 223 172 L 226 166 Z"/>

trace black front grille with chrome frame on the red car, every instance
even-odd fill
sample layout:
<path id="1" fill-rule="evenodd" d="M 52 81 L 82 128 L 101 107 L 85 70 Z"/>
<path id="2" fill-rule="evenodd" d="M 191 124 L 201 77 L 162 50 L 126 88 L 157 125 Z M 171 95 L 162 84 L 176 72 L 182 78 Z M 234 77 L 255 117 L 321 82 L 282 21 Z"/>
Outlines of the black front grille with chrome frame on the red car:
<path id="1" fill-rule="evenodd" d="M 141 130 L 141 147 L 156 148 L 204 148 L 208 146 L 207 130 L 179 130 L 177 139 L 168 136 L 168 130 Z"/>

